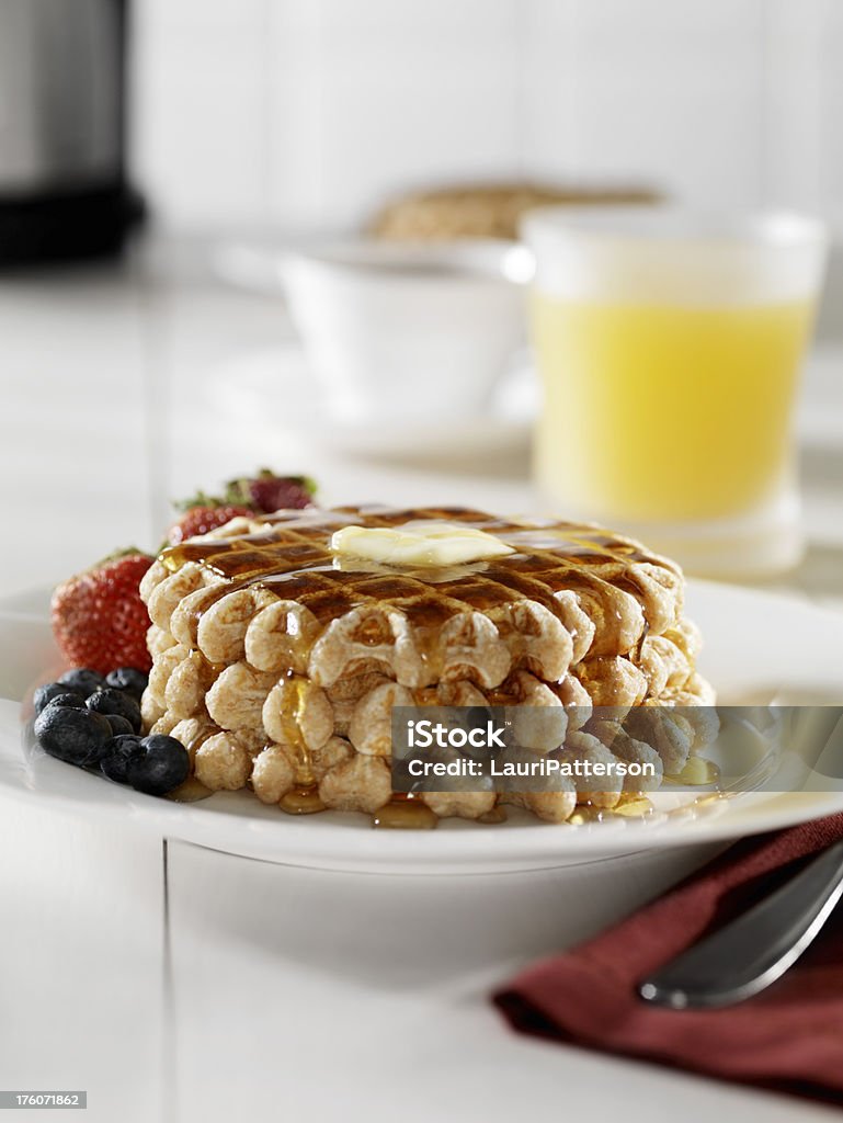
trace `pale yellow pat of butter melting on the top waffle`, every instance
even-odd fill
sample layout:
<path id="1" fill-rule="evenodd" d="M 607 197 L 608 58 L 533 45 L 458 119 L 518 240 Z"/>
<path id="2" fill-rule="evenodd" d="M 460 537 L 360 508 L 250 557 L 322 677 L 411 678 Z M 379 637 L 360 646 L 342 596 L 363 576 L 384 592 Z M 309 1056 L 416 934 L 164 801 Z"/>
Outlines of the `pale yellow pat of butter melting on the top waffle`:
<path id="1" fill-rule="evenodd" d="M 414 566 L 461 565 L 515 553 L 485 530 L 443 522 L 395 528 L 343 527 L 331 537 L 331 549 L 341 557 Z"/>

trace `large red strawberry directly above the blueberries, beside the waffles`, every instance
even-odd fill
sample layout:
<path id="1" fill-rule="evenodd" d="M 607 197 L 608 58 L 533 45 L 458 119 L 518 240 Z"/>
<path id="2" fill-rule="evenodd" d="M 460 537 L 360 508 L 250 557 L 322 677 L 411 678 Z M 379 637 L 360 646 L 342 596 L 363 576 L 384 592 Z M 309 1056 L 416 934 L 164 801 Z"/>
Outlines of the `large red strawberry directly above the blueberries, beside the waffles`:
<path id="1" fill-rule="evenodd" d="M 114 667 L 149 669 L 149 614 L 138 586 L 152 564 L 140 550 L 122 550 L 57 586 L 51 604 L 53 633 L 72 666 L 103 675 Z"/>

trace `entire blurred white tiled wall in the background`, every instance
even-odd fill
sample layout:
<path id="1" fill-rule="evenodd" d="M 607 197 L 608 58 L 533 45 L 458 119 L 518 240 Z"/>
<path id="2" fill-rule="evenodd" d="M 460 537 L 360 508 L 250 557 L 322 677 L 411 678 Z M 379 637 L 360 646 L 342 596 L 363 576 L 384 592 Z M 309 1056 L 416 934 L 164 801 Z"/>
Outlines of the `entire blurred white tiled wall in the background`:
<path id="1" fill-rule="evenodd" d="M 137 0 L 134 25 L 169 228 L 347 227 L 486 179 L 840 212 L 834 0 Z"/>

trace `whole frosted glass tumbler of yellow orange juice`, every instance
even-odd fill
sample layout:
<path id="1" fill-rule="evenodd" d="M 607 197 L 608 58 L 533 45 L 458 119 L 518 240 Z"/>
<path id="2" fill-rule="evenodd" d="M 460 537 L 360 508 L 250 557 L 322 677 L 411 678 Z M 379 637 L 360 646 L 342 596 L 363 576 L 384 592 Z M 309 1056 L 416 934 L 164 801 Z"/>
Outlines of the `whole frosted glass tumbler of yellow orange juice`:
<path id="1" fill-rule="evenodd" d="M 690 572 L 795 565 L 794 412 L 823 226 L 785 212 L 549 207 L 522 232 L 535 258 L 546 497 Z"/>

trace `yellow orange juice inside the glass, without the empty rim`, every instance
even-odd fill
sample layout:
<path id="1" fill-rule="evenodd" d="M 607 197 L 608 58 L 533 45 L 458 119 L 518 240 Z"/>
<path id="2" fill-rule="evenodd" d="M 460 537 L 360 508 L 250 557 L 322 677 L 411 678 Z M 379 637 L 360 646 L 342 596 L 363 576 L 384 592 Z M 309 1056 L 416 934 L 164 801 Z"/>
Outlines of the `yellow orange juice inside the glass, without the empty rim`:
<path id="1" fill-rule="evenodd" d="M 776 494 L 813 299 L 626 303 L 537 292 L 543 490 L 596 519 L 706 520 Z"/>

